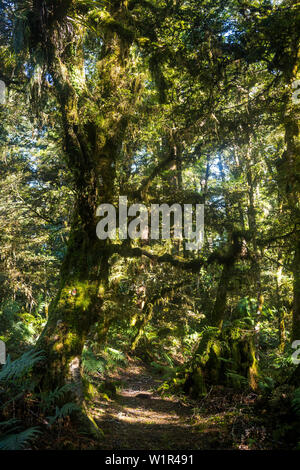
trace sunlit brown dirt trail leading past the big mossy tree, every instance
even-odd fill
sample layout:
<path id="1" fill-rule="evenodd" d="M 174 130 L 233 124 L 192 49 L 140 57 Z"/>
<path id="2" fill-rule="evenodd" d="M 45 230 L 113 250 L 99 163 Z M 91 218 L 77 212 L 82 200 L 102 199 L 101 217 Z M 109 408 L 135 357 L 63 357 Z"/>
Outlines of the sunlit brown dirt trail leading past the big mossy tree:
<path id="1" fill-rule="evenodd" d="M 201 411 L 199 402 L 161 397 L 155 390 L 163 382 L 144 365 L 119 370 L 111 379 L 121 384 L 115 399 L 100 399 L 92 414 L 104 432 L 104 450 L 232 449 L 226 423 L 228 410 Z"/>

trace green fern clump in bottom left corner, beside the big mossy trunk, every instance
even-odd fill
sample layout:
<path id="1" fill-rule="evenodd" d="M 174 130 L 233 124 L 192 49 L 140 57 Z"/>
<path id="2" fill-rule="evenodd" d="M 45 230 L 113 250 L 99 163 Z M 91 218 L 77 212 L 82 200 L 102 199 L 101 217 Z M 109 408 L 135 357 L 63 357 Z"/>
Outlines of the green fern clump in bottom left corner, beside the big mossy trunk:
<path id="1" fill-rule="evenodd" d="M 36 391 L 32 370 L 44 360 L 43 353 L 28 350 L 0 370 L 0 450 L 28 449 L 44 432 L 60 430 L 66 418 L 80 407 L 65 396 L 72 394 L 72 384 L 48 393 Z"/>

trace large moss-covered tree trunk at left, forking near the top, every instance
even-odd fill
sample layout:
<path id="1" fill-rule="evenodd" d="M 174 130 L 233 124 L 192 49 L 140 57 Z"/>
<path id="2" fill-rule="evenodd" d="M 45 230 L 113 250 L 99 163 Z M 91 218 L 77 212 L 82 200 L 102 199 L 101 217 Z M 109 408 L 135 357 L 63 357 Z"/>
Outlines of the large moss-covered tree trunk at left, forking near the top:
<path id="1" fill-rule="evenodd" d="M 121 112 L 124 108 L 118 110 L 118 104 L 104 110 L 94 106 L 92 112 L 88 112 L 92 96 L 85 83 L 85 31 L 79 24 L 70 30 L 66 29 L 67 24 L 63 25 L 67 22 L 69 6 L 66 4 L 65 11 L 60 11 L 63 15 L 60 23 L 58 20 L 53 28 L 49 26 L 43 44 L 60 106 L 66 163 L 73 176 L 76 194 L 60 288 L 36 346 L 46 355 L 47 364 L 43 370 L 37 370 L 44 390 L 67 380 L 80 384 L 82 349 L 91 326 L 101 320 L 109 257 L 105 250 L 106 241 L 100 241 L 96 235 L 96 209 L 101 203 L 114 202 L 116 160 L 127 124 Z M 64 10 L 63 5 L 61 9 Z M 124 47 L 116 35 L 107 33 L 103 56 L 97 66 L 108 102 L 116 94 L 120 81 L 123 80 L 123 86 L 126 84 L 122 54 Z M 80 394 L 81 390 L 78 391 Z"/>

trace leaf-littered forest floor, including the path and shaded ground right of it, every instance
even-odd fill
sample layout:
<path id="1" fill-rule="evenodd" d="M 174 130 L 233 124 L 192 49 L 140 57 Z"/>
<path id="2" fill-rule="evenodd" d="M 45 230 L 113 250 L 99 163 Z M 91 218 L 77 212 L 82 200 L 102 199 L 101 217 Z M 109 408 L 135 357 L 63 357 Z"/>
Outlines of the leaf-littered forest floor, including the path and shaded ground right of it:
<path id="1" fill-rule="evenodd" d="M 253 412 L 256 395 L 217 387 L 203 400 L 162 396 L 152 368 L 132 361 L 109 376 L 112 399 L 91 406 L 103 450 L 267 449 L 269 432 Z M 225 392 L 225 393 L 224 393 Z"/>

